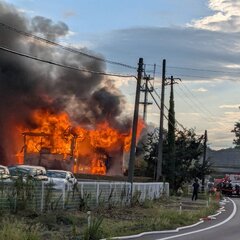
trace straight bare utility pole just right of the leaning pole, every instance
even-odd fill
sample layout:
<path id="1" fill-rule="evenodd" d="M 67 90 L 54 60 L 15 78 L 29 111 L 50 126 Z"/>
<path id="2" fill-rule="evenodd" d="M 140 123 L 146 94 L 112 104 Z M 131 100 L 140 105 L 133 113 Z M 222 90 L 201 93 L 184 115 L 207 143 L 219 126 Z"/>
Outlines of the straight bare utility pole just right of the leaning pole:
<path id="1" fill-rule="evenodd" d="M 161 109 L 160 109 L 160 124 L 159 124 L 159 140 L 158 140 L 158 158 L 157 158 L 157 176 L 156 181 L 160 180 L 162 176 L 163 163 L 163 118 L 164 118 L 164 94 L 165 94 L 165 80 L 166 80 L 166 60 L 162 63 L 162 91 L 161 91 Z"/>

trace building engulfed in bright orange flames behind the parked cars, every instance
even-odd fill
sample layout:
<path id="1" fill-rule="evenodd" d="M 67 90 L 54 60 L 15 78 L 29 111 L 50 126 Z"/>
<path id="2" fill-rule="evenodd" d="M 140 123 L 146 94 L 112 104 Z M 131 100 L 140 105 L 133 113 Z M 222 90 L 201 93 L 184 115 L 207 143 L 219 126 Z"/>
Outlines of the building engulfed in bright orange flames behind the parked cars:
<path id="1" fill-rule="evenodd" d="M 129 151 L 131 132 L 119 132 L 108 122 L 94 129 L 74 126 L 65 112 L 37 111 L 33 118 L 37 128 L 27 132 L 21 129 L 24 146 L 20 162 L 78 173 L 123 172 L 123 153 Z"/>

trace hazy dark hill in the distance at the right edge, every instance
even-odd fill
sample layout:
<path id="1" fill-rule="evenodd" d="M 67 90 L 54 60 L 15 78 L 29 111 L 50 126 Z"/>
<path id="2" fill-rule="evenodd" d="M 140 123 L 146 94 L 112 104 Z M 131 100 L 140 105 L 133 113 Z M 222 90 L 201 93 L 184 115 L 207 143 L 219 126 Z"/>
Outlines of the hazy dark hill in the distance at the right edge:
<path id="1" fill-rule="evenodd" d="M 227 148 L 221 150 L 207 149 L 207 158 L 210 158 L 216 173 L 240 173 L 240 150 Z"/>

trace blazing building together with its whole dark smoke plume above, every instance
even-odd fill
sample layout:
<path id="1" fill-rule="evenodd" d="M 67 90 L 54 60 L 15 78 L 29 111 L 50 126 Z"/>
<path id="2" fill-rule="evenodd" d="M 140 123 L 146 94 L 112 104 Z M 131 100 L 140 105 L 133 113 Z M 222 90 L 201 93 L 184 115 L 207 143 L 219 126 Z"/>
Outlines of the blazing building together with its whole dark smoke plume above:
<path id="1" fill-rule="evenodd" d="M 52 41 L 69 32 L 62 22 L 40 16 L 26 19 L 6 3 L 0 3 L 0 22 Z M 96 58 L 64 51 L 3 25 L 0 45 L 63 65 L 96 72 L 105 69 Z M 1 52 L 0 97 L 1 164 L 24 162 L 80 173 L 122 173 L 131 120 L 123 116 L 124 97 L 109 77 Z M 139 122 L 138 136 L 142 127 Z"/>

